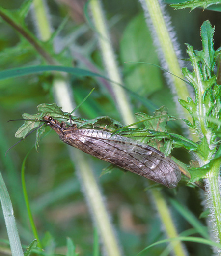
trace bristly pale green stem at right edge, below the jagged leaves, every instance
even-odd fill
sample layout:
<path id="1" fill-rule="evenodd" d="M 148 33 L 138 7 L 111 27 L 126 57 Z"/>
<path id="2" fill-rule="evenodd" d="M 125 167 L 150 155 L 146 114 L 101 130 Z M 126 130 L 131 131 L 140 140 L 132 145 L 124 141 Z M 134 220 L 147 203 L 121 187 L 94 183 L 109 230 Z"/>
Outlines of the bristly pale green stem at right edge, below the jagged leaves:
<path id="1" fill-rule="evenodd" d="M 207 204 L 211 212 L 213 235 L 216 235 L 217 242 L 221 243 L 221 179 L 220 179 L 221 158 L 214 160 L 214 163 L 207 173 L 206 196 Z M 216 237 L 215 237 L 216 238 Z"/>

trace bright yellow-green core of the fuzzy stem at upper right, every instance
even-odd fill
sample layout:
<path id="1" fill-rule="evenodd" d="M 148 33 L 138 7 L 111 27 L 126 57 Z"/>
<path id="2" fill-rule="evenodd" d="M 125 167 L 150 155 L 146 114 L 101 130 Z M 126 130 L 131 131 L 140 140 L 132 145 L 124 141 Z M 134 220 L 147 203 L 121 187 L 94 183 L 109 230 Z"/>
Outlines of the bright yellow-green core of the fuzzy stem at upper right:
<path id="1" fill-rule="evenodd" d="M 164 55 L 163 58 L 165 59 L 165 62 L 168 66 L 168 71 L 178 77 L 183 78 L 176 51 L 170 37 L 170 33 L 168 32 L 166 21 L 164 19 L 164 15 L 161 11 L 158 0 L 142 0 L 142 6 L 144 11 L 148 9 L 151 22 L 153 23 L 154 31 L 157 35 L 157 40 L 161 47 L 161 52 Z M 186 100 L 189 96 L 187 85 L 178 77 L 172 75 L 170 77 L 170 80 L 173 82 L 173 85 L 171 86 L 175 88 L 175 92 L 173 90 L 173 93 L 178 98 Z M 186 109 L 184 111 L 185 118 L 192 122 L 192 118 L 189 112 Z"/>

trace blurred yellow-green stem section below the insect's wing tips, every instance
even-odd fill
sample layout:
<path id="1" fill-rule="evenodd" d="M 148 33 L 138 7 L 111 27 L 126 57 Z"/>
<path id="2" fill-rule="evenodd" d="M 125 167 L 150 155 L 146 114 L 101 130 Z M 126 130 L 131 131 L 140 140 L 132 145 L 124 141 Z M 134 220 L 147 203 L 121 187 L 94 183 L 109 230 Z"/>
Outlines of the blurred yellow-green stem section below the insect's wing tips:
<path id="1" fill-rule="evenodd" d="M 178 237 L 178 233 L 174 226 L 171 214 L 169 212 L 168 206 L 166 205 L 166 201 L 159 190 L 153 189 L 152 195 L 154 198 L 155 205 L 157 207 L 160 218 L 164 224 L 166 229 L 166 234 L 168 238 Z M 186 251 L 182 246 L 180 241 L 172 241 L 171 242 L 172 250 L 174 251 L 174 255 L 176 256 L 186 256 Z"/>

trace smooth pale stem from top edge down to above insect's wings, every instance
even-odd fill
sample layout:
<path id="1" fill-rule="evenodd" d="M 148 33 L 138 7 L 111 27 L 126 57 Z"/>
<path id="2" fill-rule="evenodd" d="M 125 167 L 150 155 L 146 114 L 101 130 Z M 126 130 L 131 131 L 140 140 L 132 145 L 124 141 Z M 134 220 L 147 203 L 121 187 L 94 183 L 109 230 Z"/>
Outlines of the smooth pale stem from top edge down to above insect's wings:
<path id="1" fill-rule="evenodd" d="M 103 61 L 106 67 L 106 72 L 109 78 L 116 83 L 123 84 L 113 47 L 111 45 L 111 38 L 106 26 L 106 19 L 104 17 L 101 3 L 99 0 L 90 1 L 90 10 L 93 17 L 95 29 L 98 35 L 100 44 L 100 50 L 103 57 Z M 134 116 L 132 115 L 129 100 L 122 87 L 115 83 L 111 83 L 114 97 L 116 100 L 116 106 L 119 109 L 121 117 L 125 124 L 132 124 L 135 122 Z"/>

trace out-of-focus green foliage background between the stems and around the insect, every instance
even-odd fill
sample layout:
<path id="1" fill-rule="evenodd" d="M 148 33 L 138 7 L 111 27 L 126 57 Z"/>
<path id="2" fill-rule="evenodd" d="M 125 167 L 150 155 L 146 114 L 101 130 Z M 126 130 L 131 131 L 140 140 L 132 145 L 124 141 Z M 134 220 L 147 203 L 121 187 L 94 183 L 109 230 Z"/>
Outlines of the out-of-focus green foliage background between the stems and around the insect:
<path id="1" fill-rule="evenodd" d="M 20 7 L 22 2 L 0 0 L 0 6 L 10 10 Z M 152 100 L 157 107 L 165 105 L 168 113 L 176 116 L 175 104 L 162 71 L 146 64 L 125 63 L 144 61 L 159 64 L 139 2 L 112 0 L 103 1 L 103 5 L 109 18 L 112 41 L 122 68 L 125 86 L 143 98 Z M 55 38 L 55 42 L 61 49 L 64 45 L 66 46 L 60 54 L 62 64 L 74 63 L 76 67 L 84 69 L 92 66 L 102 72 L 104 68 L 96 37 L 84 20 L 83 9 L 76 18 L 74 8 L 66 6 L 63 1 L 49 1 L 49 10 L 55 28 L 65 17 L 70 16 L 59 36 Z M 214 12 L 207 10 L 195 10 L 191 13 L 188 10 L 174 11 L 169 6 L 168 11 L 177 31 L 183 54 L 185 54 L 184 43 L 193 45 L 194 49 L 201 47 L 199 28 L 207 19 L 216 27 L 215 47 L 220 45 L 220 13 L 217 12 L 214 15 Z M 31 13 L 26 18 L 26 24 L 34 34 L 34 20 Z M 0 28 L 1 70 L 42 64 L 42 58 L 26 40 L 18 36 L 15 30 L 3 21 L 0 23 Z M 48 47 L 51 47 L 51 49 L 48 48 L 49 51 L 54 51 L 52 44 Z M 34 237 L 29 228 L 22 195 L 20 170 L 23 159 L 35 143 L 35 136 L 26 138 L 5 157 L 6 150 L 17 141 L 14 134 L 20 126 L 19 121 L 7 123 L 7 120 L 20 119 L 22 114 L 27 112 L 36 113 L 36 106 L 41 103 L 54 103 L 52 79 L 53 74 L 45 72 L 0 81 L 0 170 L 11 196 L 22 243 L 26 246 Z M 110 116 L 122 122 L 103 80 L 70 75 L 70 85 L 77 104 L 95 87 L 91 97 L 79 109 L 81 117 L 93 119 L 98 116 Z M 134 113 L 152 114 L 151 110 L 147 109 L 138 98 L 132 98 L 130 94 L 128 96 L 133 104 Z M 47 128 L 47 130 L 50 129 Z M 26 162 L 28 196 L 40 238 L 47 252 L 65 254 L 66 238 L 70 237 L 76 245 L 75 250 L 80 252 L 80 255 L 91 256 L 93 224 L 78 178 L 72 171 L 73 163 L 67 151 L 67 146 L 53 132 L 40 141 L 38 152 L 31 151 Z M 189 158 L 187 152 L 177 150 L 174 153 L 180 160 Z M 87 159 L 94 170 L 107 167 L 105 162 L 90 156 L 87 156 Z M 151 198 L 144 192 L 148 186 L 146 180 L 138 175 L 118 170 L 101 177 L 100 174 L 101 171 L 96 171 L 97 179 L 107 197 L 112 222 L 125 255 L 134 256 L 147 245 L 165 238 L 158 216 L 152 207 Z M 189 208 L 193 215 L 198 217 L 202 212 L 197 190 L 180 186 L 176 192 L 164 189 L 164 193 L 166 197 L 172 195 Z M 179 232 L 192 227 L 193 223 L 190 224 L 175 208 L 171 208 L 171 211 L 178 224 Z M 201 221 L 204 224 L 204 220 Z M 7 234 L 0 211 L 0 251 L 6 247 L 3 239 L 7 239 Z M 73 246 L 70 241 L 68 243 L 69 247 Z M 211 255 L 208 246 L 193 243 L 186 243 L 186 246 L 190 255 Z M 165 245 L 153 247 L 148 251 L 148 255 L 159 256 L 165 247 Z"/>

